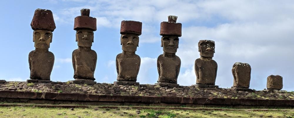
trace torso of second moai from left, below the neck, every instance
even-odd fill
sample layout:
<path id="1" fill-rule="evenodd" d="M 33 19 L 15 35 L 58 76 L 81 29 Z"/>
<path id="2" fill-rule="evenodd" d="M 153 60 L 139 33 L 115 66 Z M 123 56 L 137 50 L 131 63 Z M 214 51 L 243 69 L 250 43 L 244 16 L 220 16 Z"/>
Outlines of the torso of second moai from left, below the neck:
<path id="1" fill-rule="evenodd" d="M 94 50 L 83 52 L 76 49 L 72 53 L 72 61 L 75 79 L 95 80 L 97 53 Z"/>

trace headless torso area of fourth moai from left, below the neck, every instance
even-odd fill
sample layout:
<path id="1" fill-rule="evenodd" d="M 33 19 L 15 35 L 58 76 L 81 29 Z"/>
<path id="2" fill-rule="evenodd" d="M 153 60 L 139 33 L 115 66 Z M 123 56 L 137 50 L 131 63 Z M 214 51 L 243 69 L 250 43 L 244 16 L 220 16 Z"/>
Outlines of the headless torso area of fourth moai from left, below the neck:
<path id="1" fill-rule="evenodd" d="M 158 81 L 167 83 L 177 83 L 181 67 L 181 59 L 178 56 L 165 57 L 163 54 L 157 58 Z"/>

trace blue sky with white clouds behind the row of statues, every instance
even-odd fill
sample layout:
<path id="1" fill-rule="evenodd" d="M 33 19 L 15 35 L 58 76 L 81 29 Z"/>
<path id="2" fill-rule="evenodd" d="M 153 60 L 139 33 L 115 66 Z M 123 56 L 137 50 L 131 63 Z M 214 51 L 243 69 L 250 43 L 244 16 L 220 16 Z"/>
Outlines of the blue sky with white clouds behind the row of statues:
<path id="1" fill-rule="evenodd" d="M 218 63 L 216 85 L 233 85 L 232 66 L 249 63 L 252 68 L 250 88 L 266 88 L 269 75 L 283 76 L 283 90 L 294 90 L 294 2 L 293 1 L 121 1 L 121 0 L 36 0 L 1 1 L 0 4 L 0 79 L 29 79 L 28 54 L 34 50 L 30 23 L 35 9 L 50 9 L 56 29 L 49 50 L 55 55 L 52 81 L 73 80 L 71 53 L 75 50 L 74 18 L 80 9 L 91 9 L 97 18 L 92 49 L 97 52 L 95 71 L 97 82 L 116 80 L 115 57 L 121 53 L 120 23 L 141 21 L 142 35 L 136 54 L 141 57 L 138 82 L 154 84 L 158 79 L 156 60 L 162 54 L 160 23 L 168 15 L 178 16 L 183 24 L 182 37 L 176 55 L 182 65 L 178 83 L 196 83 L 194 61 L 200 57 L 197 43 L 216 41 L 213 60 Z"/>

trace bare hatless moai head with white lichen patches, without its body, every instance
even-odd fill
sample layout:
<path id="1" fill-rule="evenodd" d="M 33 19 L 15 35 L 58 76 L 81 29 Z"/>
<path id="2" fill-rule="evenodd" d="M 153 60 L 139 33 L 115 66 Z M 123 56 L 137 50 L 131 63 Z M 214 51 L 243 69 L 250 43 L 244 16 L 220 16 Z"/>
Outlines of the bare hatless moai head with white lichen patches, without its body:
<path id="1" fill-rule="evenodd" d="M 215 53 L 215 43 L 212 40 L 200 40 L 198 42 L 198 51 L 200 56 L 213 57 Z"/>

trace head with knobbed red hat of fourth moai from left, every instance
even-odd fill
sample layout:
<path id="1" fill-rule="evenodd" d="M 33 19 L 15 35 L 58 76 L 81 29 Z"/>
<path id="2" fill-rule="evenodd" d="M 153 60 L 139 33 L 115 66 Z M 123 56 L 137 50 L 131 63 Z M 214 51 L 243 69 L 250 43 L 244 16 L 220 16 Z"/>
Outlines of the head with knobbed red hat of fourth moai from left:
<path id="1" fill-rule="evenodd" d="M 182 36 L 182 24 L 176 23 L 177 16 L 168 16 L 168 22 L 160 23 L 161 47 L 167 53 L 176 53 L 179 48 L 179 37 Z"/>

